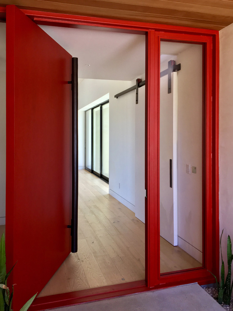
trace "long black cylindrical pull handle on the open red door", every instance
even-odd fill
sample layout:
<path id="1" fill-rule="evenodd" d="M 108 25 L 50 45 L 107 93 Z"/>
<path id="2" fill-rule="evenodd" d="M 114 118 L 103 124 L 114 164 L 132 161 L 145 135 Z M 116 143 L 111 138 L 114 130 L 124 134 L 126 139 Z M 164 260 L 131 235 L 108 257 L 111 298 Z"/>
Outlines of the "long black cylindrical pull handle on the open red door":
<path id="1" fill-rule="evenodd" d="M 72 219 L 71 252 L 78 251 L 78 58 L 72 57 Z"/>

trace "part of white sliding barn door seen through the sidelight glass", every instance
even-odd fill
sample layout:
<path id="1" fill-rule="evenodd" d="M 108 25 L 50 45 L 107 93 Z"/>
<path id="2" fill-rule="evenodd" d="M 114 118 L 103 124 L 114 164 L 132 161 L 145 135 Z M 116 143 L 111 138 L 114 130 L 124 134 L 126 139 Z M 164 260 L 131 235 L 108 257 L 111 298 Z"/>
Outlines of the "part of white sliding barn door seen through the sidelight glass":
<path id="1" fill-rule="evenodd" d="M 174 72 L 171 73 L 170 94 L 168 75 L 160 78 L 160 236 L 174 246 L 177 245 L 176 145 L 177 73 Z"/>

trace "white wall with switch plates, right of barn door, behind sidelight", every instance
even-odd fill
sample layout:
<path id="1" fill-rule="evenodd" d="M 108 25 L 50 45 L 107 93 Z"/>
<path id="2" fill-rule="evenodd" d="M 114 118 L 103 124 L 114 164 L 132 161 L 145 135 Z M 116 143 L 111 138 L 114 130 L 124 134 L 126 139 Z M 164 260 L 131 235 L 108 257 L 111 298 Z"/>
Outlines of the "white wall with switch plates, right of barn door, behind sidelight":
<path id="1" fill-rule="evenodd" d="M 202 46 L 177 55 L 178 246 L 202 262 Z M 186 173 L 191 165 L 191 174 Z M 192 166 L 197 173 L 192 173 Z"/>

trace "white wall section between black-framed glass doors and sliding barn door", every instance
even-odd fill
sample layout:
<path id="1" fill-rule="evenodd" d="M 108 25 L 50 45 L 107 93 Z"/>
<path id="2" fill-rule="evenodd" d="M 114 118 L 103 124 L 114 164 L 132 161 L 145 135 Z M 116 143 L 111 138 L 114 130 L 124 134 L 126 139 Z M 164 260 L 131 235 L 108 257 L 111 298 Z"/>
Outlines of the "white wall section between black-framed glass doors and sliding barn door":
<path id="1" fill-rule="evenodd" d="M 135 91 L 115 94 L 109 92 L 109 194 L 135 212 Z"/>

